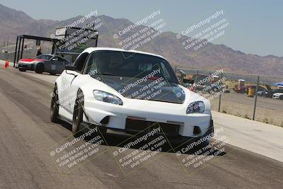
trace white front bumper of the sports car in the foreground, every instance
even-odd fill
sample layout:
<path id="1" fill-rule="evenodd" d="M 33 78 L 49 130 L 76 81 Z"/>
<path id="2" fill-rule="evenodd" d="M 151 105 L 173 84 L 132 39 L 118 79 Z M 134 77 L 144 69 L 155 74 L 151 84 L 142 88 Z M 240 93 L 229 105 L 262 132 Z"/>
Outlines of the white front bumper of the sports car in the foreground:
<path id="1" fill-rule="evenodd" d="M 113 130 L 124 130 L 134 134 L 158 122 L 168 137 L 200 137 L 213 132 L 213 121 L 210 111 L 204 113 L 183 113 L 182 104 L 149 101 L 140 105 L 139 100 L 131 99 L 132 103 L 114 105 L 93 99 L 84 102 L 86 117 L 84 122 L 99 123 L 102 127 Z M 169 111 L 168 111 L 169 110 Z M 91 121 L 93 120 L 93 122 Z"/>

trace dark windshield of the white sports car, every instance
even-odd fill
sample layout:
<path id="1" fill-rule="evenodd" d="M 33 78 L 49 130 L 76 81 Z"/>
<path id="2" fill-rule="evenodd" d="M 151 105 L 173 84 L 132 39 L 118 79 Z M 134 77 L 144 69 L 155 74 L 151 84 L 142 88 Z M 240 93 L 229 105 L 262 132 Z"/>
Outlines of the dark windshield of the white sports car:
<path id="1" fill-rule="evenodd" d="M 161 57 L 134 52 L 98 51 L 91 55 L 86 73 L 91 76 L 124 76 L 158 79 L 178 84 L 170 64 Z M 151 75 L 150 75 L 151 74 Z"/>

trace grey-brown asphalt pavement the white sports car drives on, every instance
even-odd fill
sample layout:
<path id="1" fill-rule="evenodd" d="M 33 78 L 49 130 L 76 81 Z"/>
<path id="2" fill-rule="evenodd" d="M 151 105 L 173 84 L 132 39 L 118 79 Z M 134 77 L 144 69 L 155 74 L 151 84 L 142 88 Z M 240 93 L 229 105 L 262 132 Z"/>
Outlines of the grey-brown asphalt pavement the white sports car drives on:
<path id="1" fill-rule="evenodd" d="M 125 141 L 120 135 L 105 135 L 99 156 L 62 172 L 50 148 L 74 137 L 71 125 L 50 122 L 51 90 L 50 83 L 0 68 L 0 188 L 282 188 L 282 162 L 229 144 L 201 168 L 182 164 L 194 152 L 161 151 L 125 175 L 112 153 Z"/>

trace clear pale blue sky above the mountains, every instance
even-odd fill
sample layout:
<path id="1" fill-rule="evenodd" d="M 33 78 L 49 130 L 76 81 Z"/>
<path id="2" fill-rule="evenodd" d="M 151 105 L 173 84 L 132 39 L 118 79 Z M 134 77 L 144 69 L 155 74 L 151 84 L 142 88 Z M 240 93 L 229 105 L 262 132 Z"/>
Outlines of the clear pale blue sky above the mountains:
<path id="1" fill-rule="evenodd" d="M 283 57 L 283 1 L 94 1 L 94 0 L 0 0 L 0 4 L 40 19 L 64 20 L 90 11 L 113 18 L 139 21 L 152 11 L 161 11 L 166 30 L 180 33 L 215 11 L 224 11 L 229 30 L 216 44 L 224 44 L 260 56 Z"/>

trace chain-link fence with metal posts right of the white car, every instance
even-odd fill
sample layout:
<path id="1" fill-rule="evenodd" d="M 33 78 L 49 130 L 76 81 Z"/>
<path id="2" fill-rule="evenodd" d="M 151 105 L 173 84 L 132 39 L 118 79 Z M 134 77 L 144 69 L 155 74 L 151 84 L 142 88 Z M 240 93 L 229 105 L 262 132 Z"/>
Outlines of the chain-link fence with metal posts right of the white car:
<path id="1" fill-rule="evenodd" d="M 190 90 L 208 98 L 212 110 L 283 127 L 283 78 L 183 69 L 175 72 Z"/>

